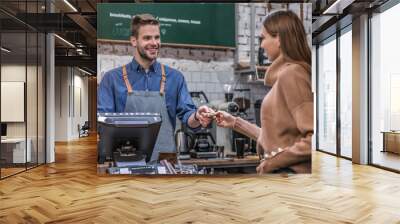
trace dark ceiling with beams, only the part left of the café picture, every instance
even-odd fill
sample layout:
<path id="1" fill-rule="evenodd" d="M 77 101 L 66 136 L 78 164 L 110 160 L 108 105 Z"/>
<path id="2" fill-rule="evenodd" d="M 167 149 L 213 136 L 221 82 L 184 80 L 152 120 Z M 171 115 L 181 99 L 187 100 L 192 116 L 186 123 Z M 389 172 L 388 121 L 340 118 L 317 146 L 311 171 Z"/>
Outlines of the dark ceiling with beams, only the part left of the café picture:
<path id="1" fill-rule="evenodd" d="M 33 41 L 29 32 L 53 32 L 61 37 L 55 38 L 56 66 L 77 66 L 95 75 L 97 2 L 99 1 L 1 0 L 2 46 L 12 49 L 7 54 L 8 60 L 15 61 L 17 58 L 25 59 L 25 55 L 28 58 L 35 55 L 36 45 L 29 43 Z M 28 45 L 25 44 L 25 35 L 18 35 L 25 31 L 28 33 Z"/>

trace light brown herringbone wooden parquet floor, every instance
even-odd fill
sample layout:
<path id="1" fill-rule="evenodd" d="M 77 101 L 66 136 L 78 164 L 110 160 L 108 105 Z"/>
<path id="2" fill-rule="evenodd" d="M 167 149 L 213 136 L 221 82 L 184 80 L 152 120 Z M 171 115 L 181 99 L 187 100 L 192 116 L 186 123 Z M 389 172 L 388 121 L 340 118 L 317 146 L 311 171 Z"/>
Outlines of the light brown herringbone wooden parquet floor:
<path id="1" fill-rule="evenodd" d="M 315 152 L 310 175 L 100 177 L 85 138 L 0 181 L 0 223 L 400 223 L 400 175 Z"/>

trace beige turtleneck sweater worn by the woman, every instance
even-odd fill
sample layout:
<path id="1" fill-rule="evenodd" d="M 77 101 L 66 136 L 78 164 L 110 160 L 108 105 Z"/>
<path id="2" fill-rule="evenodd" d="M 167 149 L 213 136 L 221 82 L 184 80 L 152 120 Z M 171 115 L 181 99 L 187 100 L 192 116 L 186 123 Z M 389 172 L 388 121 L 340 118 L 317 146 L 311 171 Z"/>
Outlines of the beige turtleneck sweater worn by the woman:
<path id="1" fill-rule="evenodd" d="M 261 104 L 261 128 L 236 119 L 234 129 L 257 139 L 257 147 L 271 156 L 266 172 L 290 167 L 297 173 L 311 173 L 314 124 L 310 71 L 308 65 L 277 58 L 266 73 L 265 84 L 272 89 Z"/>

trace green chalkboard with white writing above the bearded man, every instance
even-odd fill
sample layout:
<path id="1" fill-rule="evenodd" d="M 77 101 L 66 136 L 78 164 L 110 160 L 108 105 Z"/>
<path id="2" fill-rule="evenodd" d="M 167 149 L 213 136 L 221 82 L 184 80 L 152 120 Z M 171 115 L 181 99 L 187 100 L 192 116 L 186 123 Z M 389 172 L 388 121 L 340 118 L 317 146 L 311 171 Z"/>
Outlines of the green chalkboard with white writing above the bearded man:
<path id="1" fill-rule="evenodd" d="M 161 43 L 235 47 L 233 3 L 97 4 L 97 39 L 129 40 L 132 16 L 160 21 Z"/>

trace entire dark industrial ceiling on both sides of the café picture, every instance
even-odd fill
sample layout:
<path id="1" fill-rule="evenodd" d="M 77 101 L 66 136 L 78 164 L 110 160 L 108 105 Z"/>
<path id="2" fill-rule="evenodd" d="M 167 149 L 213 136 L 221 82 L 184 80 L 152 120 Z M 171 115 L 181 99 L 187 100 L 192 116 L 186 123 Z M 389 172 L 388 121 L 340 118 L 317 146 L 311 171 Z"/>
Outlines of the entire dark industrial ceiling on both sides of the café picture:
<path id="1" fill-rule="evenodd" d="M 3 33 L 9 33 L 7 35 L 3 34 L 5 38 L 2 41 L 3 46 L 8 42 L 8 48 L 15 48 L 15 52 L 22 53 L 22 48 L 18 48 L 18 46 L 25 46 L 25 38 L 18 38 L 15 35 L 16 33 L 25 32 L 25 30 L 28 30 L 28 32 L 54 32 L 73 45 L 58 37 L 55 38 L 56 65 L 79 66 L 87 69 L 92 74 L 96 74 L 96 4 L 107 2 L 132 3 L 148 1 L 1 0 L 0 26 Z M 153 2 L 166 1 L 155 0 Z M 287 3 L 287 0 L 269 0 L 268 2 Z M 351 23 L 353 16 L 373 10 L 387 2 L 387 0 L 294 0 L 291 2 L 313 4 L 312 33 L 313 43 L 316 43 L 336 32 L 337 24 L 345 26 L 346 20 L 347 23 Z M 52 13 L 49 13 L 50 8 Z M 333 10 L 331 10 L 332 8 Z M 341 22 L 339 23 L 338 21 Z M 28 54 L 31 51 L 33 52 L 31 48 L 35 48 L 34 44 L 28 44 Z"/>

